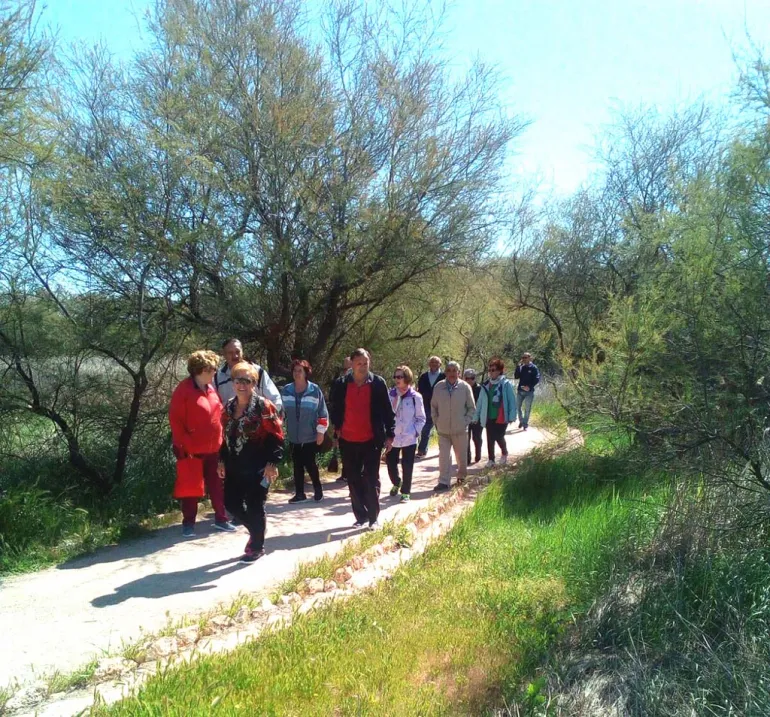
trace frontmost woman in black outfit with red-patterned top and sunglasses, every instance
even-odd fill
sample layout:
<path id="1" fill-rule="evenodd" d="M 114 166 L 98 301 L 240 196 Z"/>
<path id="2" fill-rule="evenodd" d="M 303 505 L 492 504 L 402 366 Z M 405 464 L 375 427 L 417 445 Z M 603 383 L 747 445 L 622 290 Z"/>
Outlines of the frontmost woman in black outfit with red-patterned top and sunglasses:
<path id="1" fill-rule="evenodd" d="M 241 562 L 253 563 L 265 554 L 265 501 L 283 457 L 283 426 L 273 403 L 254 390 L 254 366 L 238 363 L 231 375 L 235 396 L 223 413 L 219 470 L 225 479 L 225 507 L 249 531 Z"/>

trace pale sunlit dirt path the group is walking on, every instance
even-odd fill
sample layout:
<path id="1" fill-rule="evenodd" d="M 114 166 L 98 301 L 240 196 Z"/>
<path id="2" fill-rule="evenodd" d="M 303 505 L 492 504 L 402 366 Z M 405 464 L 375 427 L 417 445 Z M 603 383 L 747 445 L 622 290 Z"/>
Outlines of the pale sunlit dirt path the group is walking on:
<path id="1" fill-rule="evenodd" d="M 550 434 L 509 431 L 511 457 L 529 453 Z M 480 464 L 471 467 L 477 471 Z M 435 449 L 415 465 L 412 501 L 389 498 L 381 466 L 381 521 L 403 518 L 433 495 Z M 265 594 L 290 577 L 300 562 L 340 549 L 360 531 L 344 483 L 325 484 L 321 503 L 288 505 L 288 493 L 268 499 L 268 554 L 253 565 L 238 562 L 247 534 L 212 531 L 199 520 L 197 537 L 184 540 L 179 526 L 106 548 L 39 573 L 0 582 L 0 687 L 26 683 L 54 670 L 71 672 L 94 656 L 119 653 L 142 632 L 157 632 L 169 619 L 212 610 L 241 592 Z"/>

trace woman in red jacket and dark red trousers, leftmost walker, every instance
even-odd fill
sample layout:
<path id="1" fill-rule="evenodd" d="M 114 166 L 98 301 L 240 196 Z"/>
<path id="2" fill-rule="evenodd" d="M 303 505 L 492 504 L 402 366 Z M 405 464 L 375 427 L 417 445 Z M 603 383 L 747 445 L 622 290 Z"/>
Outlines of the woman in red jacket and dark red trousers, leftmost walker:
<path id="1" fill-rule="evenodd" d="M 211 385 L 220 358 L 213 351 L 195 351 L 187 360 L 189 378 L 171 396 L 168 419 L 177 459 L 174 498 L 182 507 L 182 535 L 195 537 L 198 499 L 206 492 L 214 507 L 214 527 L 232 532 L 225 513 L 222 478 L 217 471 L 222 446 L 222 402 Z"/>

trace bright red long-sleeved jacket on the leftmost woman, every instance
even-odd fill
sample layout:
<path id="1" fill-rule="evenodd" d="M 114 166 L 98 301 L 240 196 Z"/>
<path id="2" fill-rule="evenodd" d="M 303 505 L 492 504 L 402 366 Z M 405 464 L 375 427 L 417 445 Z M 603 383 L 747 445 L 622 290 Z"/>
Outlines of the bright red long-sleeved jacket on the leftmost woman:
<path id="1" fill-rule="evenodd" d="M 192 378 L 182 381 L 171 396 L 168 420 L 177 458 L 217 453 L 222 446 L 222 401 L 212 386 L 200 389 Z"/>

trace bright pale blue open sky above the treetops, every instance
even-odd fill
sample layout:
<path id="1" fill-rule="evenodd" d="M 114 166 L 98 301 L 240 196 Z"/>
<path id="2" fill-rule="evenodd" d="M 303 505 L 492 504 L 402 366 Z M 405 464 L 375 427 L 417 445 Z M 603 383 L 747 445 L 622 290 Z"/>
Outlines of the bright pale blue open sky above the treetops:
<path id="1" fill-rule="evenodd" d="M 148 5 L 48 0 L 43 17 L 65 43 L 103 39 L 126 55 L 141 45 L 135 15 Z M 559 194 L 587 180 L 614 112 L 727 102 L 747 29 L 770 44 L 770 0 L 456 0 L 445 22 L 455 62 L 479 55 L 499 66 L 505 104 L 532 120 L 513 172 Z"/>

